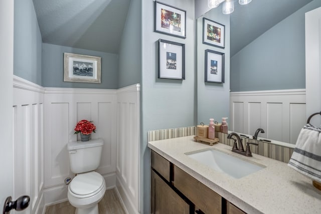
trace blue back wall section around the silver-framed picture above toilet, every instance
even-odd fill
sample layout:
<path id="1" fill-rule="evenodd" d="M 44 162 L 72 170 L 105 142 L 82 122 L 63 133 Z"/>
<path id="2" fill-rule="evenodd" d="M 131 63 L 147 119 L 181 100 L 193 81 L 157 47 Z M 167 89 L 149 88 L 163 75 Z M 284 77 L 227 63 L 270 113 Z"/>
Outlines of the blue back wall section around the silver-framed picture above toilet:
<path id="1" fill-rule="evenodd" d="M 64 82 L 64 53 L 101 57 L 101 84 Z M 43 43 L 44 87 L 117 89 L 118 55 Z"/>

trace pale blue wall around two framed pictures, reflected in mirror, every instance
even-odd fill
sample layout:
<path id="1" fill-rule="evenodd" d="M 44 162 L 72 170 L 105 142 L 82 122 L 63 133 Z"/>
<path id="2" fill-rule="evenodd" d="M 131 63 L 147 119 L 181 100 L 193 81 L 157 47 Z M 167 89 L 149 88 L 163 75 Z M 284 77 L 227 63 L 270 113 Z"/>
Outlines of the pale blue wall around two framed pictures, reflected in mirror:
<path id="1" fill-rule="evenodd" d="M 203 44 L 203 17 L 225 25 L 225 48 Z M 205 50 L 225 54 L 225 82 L 205 82 Z M 230 105 L 230 16 L 222 14 L 222 6 L 197 19 L 197 123 L 208 124 L 210 118 L 221 121 L 229 117 Z"/>

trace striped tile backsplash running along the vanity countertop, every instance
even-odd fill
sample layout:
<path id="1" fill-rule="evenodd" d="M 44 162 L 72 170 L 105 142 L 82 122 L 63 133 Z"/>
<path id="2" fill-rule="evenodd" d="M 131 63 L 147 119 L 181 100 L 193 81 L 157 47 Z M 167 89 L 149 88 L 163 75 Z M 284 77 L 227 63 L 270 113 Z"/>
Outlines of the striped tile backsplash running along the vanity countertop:
<path id="1" fill-rule="evenodd" d="M 176 137 L 185 137 L 191 136 L 196 134 L 196 127 L 183 127 L 183 128 L 172 128 L 172 129 L 162 129 L 162 130 L 154 130 L 147 132 L 147 140 L 154 141 L 154 140 L 165 140 L 170 138 Z M 216 137 L 220 139 L 220 143 L 233 146 L 234 140 L 227 139 L 227 134 L 222 132 L 216 132 Z M 253 140 L 248 138 L 241 138 L 243 139 L 243 147 L 245 149 L 247 142 L 254 142 L 258 143 L 258 146 L 251 145 L 250 148 L 252 153 L 259 154 L 265 157 L 269 157 L 275 160 L 279 160 L 282 162 L 287 163 L 292 155 L 293 148 L 288 148 L 286 146 L 276 145 L 268 142 L 263 142 L 260 140 Z"/>

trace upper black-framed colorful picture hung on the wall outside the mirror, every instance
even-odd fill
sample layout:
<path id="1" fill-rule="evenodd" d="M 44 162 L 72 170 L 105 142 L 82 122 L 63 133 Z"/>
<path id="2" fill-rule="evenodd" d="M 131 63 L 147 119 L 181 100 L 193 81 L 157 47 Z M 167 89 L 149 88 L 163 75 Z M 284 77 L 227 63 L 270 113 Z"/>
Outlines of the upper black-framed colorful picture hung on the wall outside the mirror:
<path id="1" fill-rule="evenodd" d="M 154 32 L 186 38 L 186 11 L 155 1 Z"/>

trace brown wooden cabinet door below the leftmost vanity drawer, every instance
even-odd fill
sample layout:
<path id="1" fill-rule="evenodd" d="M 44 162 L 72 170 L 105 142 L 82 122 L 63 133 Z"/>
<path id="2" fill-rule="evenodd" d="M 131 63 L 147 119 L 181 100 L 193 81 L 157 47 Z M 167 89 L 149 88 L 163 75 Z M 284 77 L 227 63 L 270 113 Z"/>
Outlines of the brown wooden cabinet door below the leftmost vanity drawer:
<path id="1" fill-rule="evenodd" d="M 150 212 L 153 214 L 190 213 L 190 205 L 161 177 L 151 170 Z"/>

